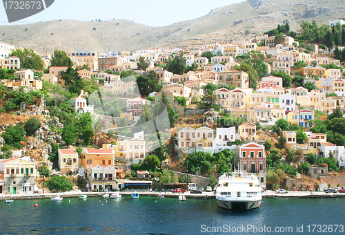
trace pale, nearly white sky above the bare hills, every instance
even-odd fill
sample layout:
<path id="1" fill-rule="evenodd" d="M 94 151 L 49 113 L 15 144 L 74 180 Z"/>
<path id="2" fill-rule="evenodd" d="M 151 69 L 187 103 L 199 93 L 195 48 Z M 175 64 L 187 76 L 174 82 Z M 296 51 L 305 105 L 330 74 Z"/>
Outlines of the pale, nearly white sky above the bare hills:
<path id="1" fill-rule="evenodd" d="M 105 21 L 115 18 L 158 27 L 202 17 L 210 10 L 241 1 L 244 0 L 55 0 L 46 10 L 12 23 L 8 23 L 4 5 L 0 6 L 0 24 L 16 25 L 55 19 Z"/>

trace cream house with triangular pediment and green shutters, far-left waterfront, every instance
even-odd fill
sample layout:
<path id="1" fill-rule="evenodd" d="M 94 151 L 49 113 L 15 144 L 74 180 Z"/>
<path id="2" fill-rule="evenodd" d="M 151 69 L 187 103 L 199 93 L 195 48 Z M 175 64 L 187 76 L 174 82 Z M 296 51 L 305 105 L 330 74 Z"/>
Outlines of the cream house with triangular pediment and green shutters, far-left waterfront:
<path id="1" fill-rule="evenodd" d="M 4 181 L 0 191 L 5 194 L 33 194 L 36 164 L 30 157 L 1 159 L 0 178 Z"/>

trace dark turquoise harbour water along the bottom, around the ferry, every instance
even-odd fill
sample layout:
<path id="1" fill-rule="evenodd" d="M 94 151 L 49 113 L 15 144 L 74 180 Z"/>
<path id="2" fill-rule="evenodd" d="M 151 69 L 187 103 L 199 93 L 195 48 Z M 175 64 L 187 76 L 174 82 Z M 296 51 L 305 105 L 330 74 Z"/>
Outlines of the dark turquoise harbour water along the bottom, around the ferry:
<path id="1" fill-rule="evenodd" d="M 38 207 L 34 207 L 35 203 Z M 178 198 L 142 196 L 138 200 L 130 197 L 122 197 L 121 200 L 71 198 L 68 203 L 66 198 L 62 202 L 14 200 L 10 205 L 1 201 L 0 211 L 0 234 L 273 233 L 267 229 L 266 232 L 260 231 L 264 226 L 293 229 L 279 234 L 325 234 L 317 232 L 317 227 L 313 233 L 313 224 L 327 226 L 327 229 L 330 229 L 329 225 L 345 224 L 345 198 L 264 198 L 262 207 L 250 211 L 221 209 L 214 199 L 187 198 L 186 202 L 180 202 Z M 253 229 L 256 226 L 257 231 L 246 229 L 248 225 Z M 308 228 L 308 225 L 311 226 Z M 231 232 L 233 227 L 237 228 L 236 232 Z M 333 232 L 326 234 L 345 234 L 341 227 L 337 227 L 337 232 L 334 228 Z"/>

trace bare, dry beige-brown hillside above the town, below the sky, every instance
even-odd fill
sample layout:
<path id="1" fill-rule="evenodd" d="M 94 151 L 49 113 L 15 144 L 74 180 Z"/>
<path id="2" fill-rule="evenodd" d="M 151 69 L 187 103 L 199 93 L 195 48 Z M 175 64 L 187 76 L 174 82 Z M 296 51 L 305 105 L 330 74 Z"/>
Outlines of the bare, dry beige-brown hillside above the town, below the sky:
<path id="1" fill-rule="evenodd" d="M 275 28 L 284 19 L 298 30 L 302 21 L 328 23 L 344 17 L 345 0 L 248 0 L 211 10 L 208 15 L 150 27 L 122 19 L 109 21 L 56 20 L 0 26 L 0 40 L 21 47 L 48 50 L 139 50 L 175 46 L 186 48 L 213 41 L 249 38 Z M 28 30 L 25 30 L 25 29 Z M 95 30 L 94 30 L 95 28 Z M 250 30 L 250 35 L 244 31 Z"/>

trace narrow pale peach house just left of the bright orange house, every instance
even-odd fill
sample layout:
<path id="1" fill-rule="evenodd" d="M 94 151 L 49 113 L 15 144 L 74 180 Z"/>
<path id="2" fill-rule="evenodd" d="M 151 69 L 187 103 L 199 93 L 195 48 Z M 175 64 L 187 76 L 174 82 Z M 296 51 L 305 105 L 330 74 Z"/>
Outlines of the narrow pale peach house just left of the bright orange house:
<path id="1" fill-rule="evenodd" d="M 59 149 L 58 165 L 63 175 L 75 174 L 79 169 L 79 155 L 75 149 Z"/>

